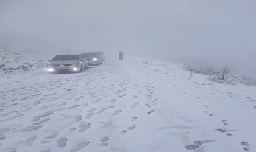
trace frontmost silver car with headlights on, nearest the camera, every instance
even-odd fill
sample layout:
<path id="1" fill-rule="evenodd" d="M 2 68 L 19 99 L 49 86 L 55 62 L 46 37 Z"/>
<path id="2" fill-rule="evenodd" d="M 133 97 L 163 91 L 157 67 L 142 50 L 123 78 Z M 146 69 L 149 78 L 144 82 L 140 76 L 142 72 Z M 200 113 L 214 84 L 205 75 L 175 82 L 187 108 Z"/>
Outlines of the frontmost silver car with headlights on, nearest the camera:
<path id="1" fill-rule="evenodd" d="M 50 73 L 83 72 L 88 69 L 88 61 L 81 55 L 56 55 L 47 64 Z"/>

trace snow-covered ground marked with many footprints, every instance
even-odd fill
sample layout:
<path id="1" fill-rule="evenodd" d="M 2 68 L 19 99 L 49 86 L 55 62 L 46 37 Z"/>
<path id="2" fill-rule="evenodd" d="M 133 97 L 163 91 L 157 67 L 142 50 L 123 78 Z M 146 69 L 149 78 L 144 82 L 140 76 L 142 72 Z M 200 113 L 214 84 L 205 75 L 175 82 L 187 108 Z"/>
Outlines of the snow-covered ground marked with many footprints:
<path id="1" fill-rule="evenodd" d="M 179 65 L 106 60 L 0 77 L 0 151 L 256 151 L 256 88 Z"/>

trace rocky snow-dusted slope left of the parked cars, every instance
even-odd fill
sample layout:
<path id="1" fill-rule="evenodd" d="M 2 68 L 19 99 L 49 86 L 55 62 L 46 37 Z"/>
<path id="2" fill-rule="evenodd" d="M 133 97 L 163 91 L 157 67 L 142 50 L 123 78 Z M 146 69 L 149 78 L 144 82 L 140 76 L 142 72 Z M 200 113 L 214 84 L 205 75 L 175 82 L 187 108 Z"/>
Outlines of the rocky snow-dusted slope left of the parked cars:
<path id="1" fill-rule="evenodd" d="M 46 61 L 41 57 L 0 49 L 0 75 L 34 71 L 35 68 L 44 67 L 45 64 Z"/>

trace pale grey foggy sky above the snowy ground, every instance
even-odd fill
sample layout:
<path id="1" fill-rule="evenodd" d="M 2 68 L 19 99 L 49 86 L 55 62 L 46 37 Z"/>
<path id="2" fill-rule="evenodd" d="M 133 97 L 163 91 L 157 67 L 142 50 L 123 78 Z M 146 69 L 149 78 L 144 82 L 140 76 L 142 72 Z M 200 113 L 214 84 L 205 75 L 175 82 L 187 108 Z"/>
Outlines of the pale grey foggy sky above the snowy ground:
<path id="1" fill-rule="evenodd" d="M 0 46 L 103 50 L 256 71 L 256 1 L 0 0 Z"/>

